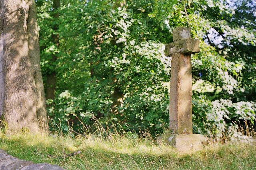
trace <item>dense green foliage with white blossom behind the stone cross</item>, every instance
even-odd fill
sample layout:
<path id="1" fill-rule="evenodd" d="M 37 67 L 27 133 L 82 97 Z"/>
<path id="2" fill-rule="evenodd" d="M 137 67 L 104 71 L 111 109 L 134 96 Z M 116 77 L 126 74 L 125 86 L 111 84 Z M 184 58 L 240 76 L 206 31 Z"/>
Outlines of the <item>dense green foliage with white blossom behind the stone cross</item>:
<path id="1" fill-rule="evenodd" d="M 82 128 L 77 120 L 90 124 L 93 113 L 125 131 L 162 133 L 169 123 L 164 84 L 171 69 L 164 44 L 172 42 L 177 26 L 190 26 L 192 37 L 200 39 L 200 53 L 192 55 L 193 82 L 202 80 L 200 88 L 213 89 L 193 91 L 194 132 L 232 137 L 238 134 L 235 121 L 254 124 L 252 2 L 232 8 L 218 0 L 126 0 L 126 6 L 115 9 L 108 0 L 61 3 L 55 21 L 52 2 L 37 1 L 43 76 L 57 73 L 56 99 L 49 109 L 56 125 L 61 122 L 67 130 L 73 123 L 76 130 Z M 59 25 L 58 47 L 51 43 L 50 21 Z"/>

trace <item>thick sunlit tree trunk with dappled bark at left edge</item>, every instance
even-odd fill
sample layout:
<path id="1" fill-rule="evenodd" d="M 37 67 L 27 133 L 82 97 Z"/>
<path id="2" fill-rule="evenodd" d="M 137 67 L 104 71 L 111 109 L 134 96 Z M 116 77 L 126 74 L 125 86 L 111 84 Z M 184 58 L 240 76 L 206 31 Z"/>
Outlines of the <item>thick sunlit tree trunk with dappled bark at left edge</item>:
<path id="1" fill-rule="evenodd" d="M 0 0 L 0 117 L 9 131 L 47 127 L 34 0 Z"/>

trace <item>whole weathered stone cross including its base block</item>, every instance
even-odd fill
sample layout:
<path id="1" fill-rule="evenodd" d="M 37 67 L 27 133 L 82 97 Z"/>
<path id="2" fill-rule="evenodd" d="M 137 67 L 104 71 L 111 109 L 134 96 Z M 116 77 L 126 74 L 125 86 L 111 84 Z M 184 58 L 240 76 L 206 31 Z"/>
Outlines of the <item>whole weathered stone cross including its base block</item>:
<path id="1" fill-rule="evenodd" d="M 167 142 L 180 152 L 199 150 L 207 143 L 206 137 L 192 134 L 192 74 L 191 54 L 199 52 L 199 39 L 190 38 L 189 27 L 173 30 L 173 43 L 165 46 L 165 55 L 172 56 L 170 86 L 170 132 L 165 132 L 157 143 Z"/>

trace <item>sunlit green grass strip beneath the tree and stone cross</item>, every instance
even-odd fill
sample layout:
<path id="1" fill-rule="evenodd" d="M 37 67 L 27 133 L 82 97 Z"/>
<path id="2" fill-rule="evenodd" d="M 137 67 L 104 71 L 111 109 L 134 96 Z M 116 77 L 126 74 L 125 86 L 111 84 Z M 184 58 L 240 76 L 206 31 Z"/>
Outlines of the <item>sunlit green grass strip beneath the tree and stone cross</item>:
<path id="1" fill-rule="evenodd" d="M 49 136 L 46 134 L 6 135 L 0 149 L 34 163 L 48 162 L 66 169 L 255 169 L 256 143 L 209 144 L 192 154 L 179 154 L 168 145 L 156 145 L 149 138 L 134 139 L 109 135 L 106 138 Z M 66 158 L 63 151 L 81 154 Z"/>

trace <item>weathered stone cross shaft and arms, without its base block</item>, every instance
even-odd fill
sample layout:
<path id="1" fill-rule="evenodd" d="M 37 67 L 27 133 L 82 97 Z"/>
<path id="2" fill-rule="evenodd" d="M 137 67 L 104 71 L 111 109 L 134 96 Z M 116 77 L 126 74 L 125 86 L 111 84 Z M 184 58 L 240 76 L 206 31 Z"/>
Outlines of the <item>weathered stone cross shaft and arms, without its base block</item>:
<path id="1" fill-rule="evenodd" d="M 165 55 L 172 56 L 169 129 L 173 134 L 192 133 L 191 54 L 199 52 L 199 39 L 192 39 L 190 32 L 189 27 L 176 27 L 174 42 L 165 46 Z"/>

